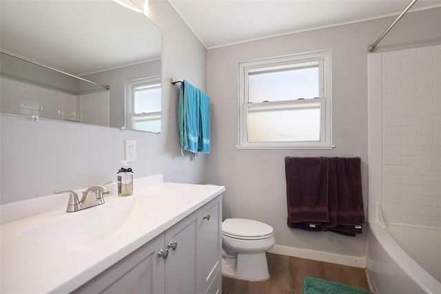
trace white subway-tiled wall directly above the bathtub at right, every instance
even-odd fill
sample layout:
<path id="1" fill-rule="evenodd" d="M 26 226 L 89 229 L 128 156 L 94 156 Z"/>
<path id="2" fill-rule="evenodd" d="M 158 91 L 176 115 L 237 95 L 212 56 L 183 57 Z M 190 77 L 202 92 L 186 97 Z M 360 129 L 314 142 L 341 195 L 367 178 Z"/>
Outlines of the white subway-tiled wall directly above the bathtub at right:
<path id="1" fill-rule="evenodd" d="M 441 46 L 382 54 L 387 222 L 441 227 Z"/>

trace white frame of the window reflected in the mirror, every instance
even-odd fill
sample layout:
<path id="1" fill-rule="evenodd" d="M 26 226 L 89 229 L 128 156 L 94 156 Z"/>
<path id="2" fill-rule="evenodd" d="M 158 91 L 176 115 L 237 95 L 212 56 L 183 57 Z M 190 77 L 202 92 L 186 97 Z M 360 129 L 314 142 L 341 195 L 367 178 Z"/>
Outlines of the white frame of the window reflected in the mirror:
<path id="1" fill-rule="evenodd" d="M 134 92 L 139 86 L 149 86 L 159 84 L 161 87 L 161 76 L 146 77 L 142 79 L 134 79 L 125 82 L 125 124 L 128 128 L 133 128 L 134 121 L 143 121 L 153 119 L 156 120 L 158 117 L 161 119 L 161 111 L 159 112 L 148 112 L 148 113 L 134 113 Z"/>

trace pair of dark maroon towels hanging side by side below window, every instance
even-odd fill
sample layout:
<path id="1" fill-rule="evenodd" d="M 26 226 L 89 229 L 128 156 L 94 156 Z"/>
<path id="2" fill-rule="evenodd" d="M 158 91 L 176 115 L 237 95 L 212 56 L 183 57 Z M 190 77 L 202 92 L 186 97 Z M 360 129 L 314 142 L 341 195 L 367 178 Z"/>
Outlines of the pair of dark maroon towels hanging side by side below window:
<path id="1" fill-rule="evenodd" d="M 360 157 L 285 157 L 288 226 L 349 236 L 362 233 L 360 162 Z"/>

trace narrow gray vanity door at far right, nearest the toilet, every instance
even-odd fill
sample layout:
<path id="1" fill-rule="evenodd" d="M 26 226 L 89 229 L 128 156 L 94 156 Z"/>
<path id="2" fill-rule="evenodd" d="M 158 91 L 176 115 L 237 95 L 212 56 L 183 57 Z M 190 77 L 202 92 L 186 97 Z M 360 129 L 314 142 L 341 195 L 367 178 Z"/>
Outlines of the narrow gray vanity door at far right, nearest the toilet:
<path id="1" fill-rule="evenodd" d="M 202 271 L 203 288 L 208 288 L 216 275 L 220 275 L 222 263 L 222 206 L 220 196 L 203 206 L 202 221 Z"/>

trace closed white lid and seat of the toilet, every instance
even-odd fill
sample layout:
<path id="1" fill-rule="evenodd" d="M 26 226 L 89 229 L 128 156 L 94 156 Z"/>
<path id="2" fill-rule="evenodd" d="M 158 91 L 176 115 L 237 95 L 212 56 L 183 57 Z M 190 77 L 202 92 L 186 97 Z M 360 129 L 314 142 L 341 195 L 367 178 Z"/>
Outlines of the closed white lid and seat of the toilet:
<path id="1" fill-rule="evenodd" d="M 225 219 L 222 233 L 236 237 L 267 237 L 273 233 L 273 228 L 252 219 Z"/>

